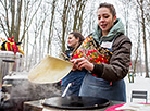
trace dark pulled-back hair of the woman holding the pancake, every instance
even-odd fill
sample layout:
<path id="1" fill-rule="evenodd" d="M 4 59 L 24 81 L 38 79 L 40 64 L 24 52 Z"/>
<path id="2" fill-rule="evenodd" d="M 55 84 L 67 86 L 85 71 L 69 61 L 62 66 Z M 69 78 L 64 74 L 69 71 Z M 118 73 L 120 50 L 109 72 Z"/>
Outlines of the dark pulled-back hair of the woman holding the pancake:
<path id="1" fill-rule="evenodd" d="M 102 7 L 105 7 L 110 10 L 110 12 L 112 13 L 113 17 L 116 15 L 116 12 L 115 12 L 115 8 L 113 7 L 113 4 L 110 4 L 110 3 L 100 3 L 98 9 L 102 8 Z"/>

